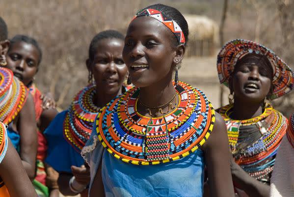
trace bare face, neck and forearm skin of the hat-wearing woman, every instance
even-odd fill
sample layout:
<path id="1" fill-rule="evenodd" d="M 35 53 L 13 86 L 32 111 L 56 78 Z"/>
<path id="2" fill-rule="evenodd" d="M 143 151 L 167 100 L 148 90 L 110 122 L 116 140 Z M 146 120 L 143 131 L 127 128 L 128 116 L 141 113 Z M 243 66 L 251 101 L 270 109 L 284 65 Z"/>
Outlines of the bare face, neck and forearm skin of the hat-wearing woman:
<path id="1" fill-rule="evenodd" d="M 231 118 L 250 119 L 263 113 L 263 103 L 271 91 L 272 70 L 264 64 L 248 60 L 237 66 L 230 81 L 234 96 L 234 110 Z M 255 84 L 255 85 L 252 85 Z M 270 187 L 249 176 L 231 157 L 233 182 L 249 197 L 268 197 Z"/>

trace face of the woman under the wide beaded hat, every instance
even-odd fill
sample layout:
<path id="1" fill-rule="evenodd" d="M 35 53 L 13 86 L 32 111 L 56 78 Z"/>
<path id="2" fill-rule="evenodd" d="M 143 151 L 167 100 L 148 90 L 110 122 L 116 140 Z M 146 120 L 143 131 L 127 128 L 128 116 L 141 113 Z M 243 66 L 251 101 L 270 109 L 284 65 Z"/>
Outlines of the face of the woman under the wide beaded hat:
<path id="1" fill-rule="evenodd" d="M 243 62 L 236 66 L 232 80 L 235 99 L 262 102 L 271 88 L 272 71 L 261 63 Z"/>

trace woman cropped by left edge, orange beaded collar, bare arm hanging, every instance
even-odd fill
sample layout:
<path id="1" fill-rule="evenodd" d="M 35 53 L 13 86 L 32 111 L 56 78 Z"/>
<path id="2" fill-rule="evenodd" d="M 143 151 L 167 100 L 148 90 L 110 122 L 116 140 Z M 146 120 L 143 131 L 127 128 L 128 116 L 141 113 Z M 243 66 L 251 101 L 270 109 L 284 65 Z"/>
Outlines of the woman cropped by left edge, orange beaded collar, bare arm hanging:
<path id="1" fill-rule="evenodd" d="M 7 34 L 5 36 L 1 42 L 1 66 L 7 65 L 5 55 L 9 48 L 9 41 Z M 5 84 L 10 86 L 11 90 L 1 95 L 3 100 L 0 104 L 0 121 L 8 125 L 7 135 L 19 152 L 28 177 L 33 180 L 37 152 L 33 99 L 28 94 L 26 86 L 13 76 L 12 72 L 7 68 L 2 68 L 1 72 L 5 78 Z"/>

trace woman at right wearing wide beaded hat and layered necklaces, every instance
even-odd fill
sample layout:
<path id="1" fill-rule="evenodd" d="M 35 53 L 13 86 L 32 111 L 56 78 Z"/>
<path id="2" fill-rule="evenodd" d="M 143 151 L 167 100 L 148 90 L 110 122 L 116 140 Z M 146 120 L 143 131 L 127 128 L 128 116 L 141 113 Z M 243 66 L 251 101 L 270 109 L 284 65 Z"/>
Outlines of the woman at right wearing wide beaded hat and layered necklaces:
<path id="1" fill-rule="evenodd" d="M 288 120 L 266 99 L 293 89 L 292 70 L 266 47 L 237 39 L 219 52 L 217 71 L 220 83 L 229 86 L 231 92 L 230 104 L 221 107 L 219 113 L 227 125 L 236 192 L 245 197 L 267 197 Z"/>

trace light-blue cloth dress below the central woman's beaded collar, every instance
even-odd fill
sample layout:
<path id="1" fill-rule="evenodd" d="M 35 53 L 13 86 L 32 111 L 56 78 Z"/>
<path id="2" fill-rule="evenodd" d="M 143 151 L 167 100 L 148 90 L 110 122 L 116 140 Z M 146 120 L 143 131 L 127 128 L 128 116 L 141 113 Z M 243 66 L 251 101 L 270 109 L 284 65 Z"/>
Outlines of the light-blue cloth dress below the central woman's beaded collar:
<path id="1" fill-rule="evenodd" d="M 99 164 L 102 162 L 106 197 L 203 196 L 205 162 L 201 149 L 177 161 L 136 166 L 110 155 L 98 140 L 97 133 L 92 131 L 82 155 L 90 165 L 90 190 Z"/>

